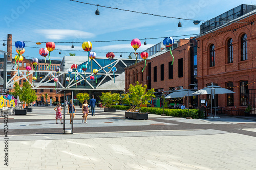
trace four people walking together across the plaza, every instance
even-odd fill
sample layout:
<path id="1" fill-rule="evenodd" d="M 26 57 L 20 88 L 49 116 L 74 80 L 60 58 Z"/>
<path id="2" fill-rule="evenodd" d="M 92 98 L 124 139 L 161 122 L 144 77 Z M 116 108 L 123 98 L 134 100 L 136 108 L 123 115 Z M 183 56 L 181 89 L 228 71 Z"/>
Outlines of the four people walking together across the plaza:
<path id="1" fill-rule="evenodd" d="M 95 105 L 96 105 L 96 99 L 94 99 L 94 96 L 92 95 L 92 99 L 90 99 L 90 104 L 88 105 L 88 102 L 87 100 L 84 100 L 83 101 L 83 104 L 82 104 L 82 113 L 83 113 L 83 116 L 82 116 L 82 123 L 84 121 L 84 123 L 87 123 L 86 120 L 87 120 L 87 116 L 88 116 L 88 113 L 89 113 L 89 107 L 91 107 L 91 113 L 92 113 L 92 116 L 95 116 Z M 65 102 L 66 104 L 66 102 Z M 63 124 L 62 123 L 62 107 L 61 107 L 61 104 L 58 103 L 58 105 L 54 108 L 54 110 L 56 111 L 56 124 L 58 124 L 58 119 L 60 119 L 60 124 Z M 75 112 L 76 112 L 76 108 L 75 108 L 75 105 L 73 104 L 73 110 L 72 110 L 72 100 L 69 101 L 69 104 L 68 104 L 68 110 L 69 110 L 69 120 L 70 120 L 70 124 L 72 123 L 72 115 L 73 115 L 73 119 L 75 117 Z"/>

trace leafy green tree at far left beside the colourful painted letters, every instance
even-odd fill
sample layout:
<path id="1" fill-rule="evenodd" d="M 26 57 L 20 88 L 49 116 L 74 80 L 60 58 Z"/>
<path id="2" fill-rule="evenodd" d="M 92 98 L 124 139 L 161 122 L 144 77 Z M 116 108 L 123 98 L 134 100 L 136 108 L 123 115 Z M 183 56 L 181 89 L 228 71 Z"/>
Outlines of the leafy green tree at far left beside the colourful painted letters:
<path id="1" fill-rule="evenodd" d="M 28 81 L 24 82 L 22 87 L 19 87 L 18 82 L 15 82 L 14 91 L 11 92 L 11 95 L 19 96 L 20 101 L 26 102 L 27 108 L 29 107 L 30 103 L 37 99 L 36 92 L 31 88 Z"/>

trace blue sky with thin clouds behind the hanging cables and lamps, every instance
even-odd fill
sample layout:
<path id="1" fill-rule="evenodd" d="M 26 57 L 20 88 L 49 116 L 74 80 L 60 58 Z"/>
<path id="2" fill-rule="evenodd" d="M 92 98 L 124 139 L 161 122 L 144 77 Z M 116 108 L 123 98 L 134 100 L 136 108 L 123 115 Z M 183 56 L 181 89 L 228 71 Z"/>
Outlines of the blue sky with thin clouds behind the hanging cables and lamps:
<path id="1" fill-rule="evenodd" d="M 82 2 L 99 4 L 120 9 L 127 9 L 145 13 L 152 13 L 164 16 L 188 18 L 196 20 L 209 20 L 240 4 L 256 5 L 251 0 L 165 0 L 165 1 L 86 1 Z M 177 19 L 143 15 L 138 13 L 125 12 L 109 8 L 99 7 L 100 15 L 95 15 L 96 6 L 72 2 L 69 0 L 10 0 L 1 2 L 0 18 L 0 39 L 7 40 L 7 34 L 12 34 L 12 39 L 17 41 L 36 42 L 75 42 L 75 41 L 108 41 L 134 38 L 168 37 L 200 33 L 200 25 L 194 25 L 192 21 L 181 20 L 182 27 L 178 28 Z M 202 23 L 202 22 L 201 22 Z M 176 37 L 186 38 L 189 36 Z M 137 51 L 143 51 L 150 46 L 161 42 L 163 39 L 147 40 L 147 45 L 142 45 Z M 7 42 L 5 42 L 7 43 Z M 14 44 L 15 42 L 13 42 Z M 6 51 L 7 46 L 0 50 Z M 51 59 L 61 60 L 64 55 L 76 53 L 76 55 L 87 55 L 87 52 L 67 51 L 82 50 L 82 43 L 56 43 L 56 49 L 51 52 Z M 39 48 L 44 48 L 45 43 L 25 43 L 25 56 L 28 59 L 36 57 L 44 59 L 39 55 Z M 130 41 L 100 42 L 92 43 L 92 51 L 96 51 L 97 57 L 105 57 L 106 52 L 123 52 L 123 58 L 134 52 Z M 16 53 L 13 47 L 13 53 Z M 14 55 L 13 55 L 14 56 Z M 115 53 L 116 57 L 120 53 Z"/>

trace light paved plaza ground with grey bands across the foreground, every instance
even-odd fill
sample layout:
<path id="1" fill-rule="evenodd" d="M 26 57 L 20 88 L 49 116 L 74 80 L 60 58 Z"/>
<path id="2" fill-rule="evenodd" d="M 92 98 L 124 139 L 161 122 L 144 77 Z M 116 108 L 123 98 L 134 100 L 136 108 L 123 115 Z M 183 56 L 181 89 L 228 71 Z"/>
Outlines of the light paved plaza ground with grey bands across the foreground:
<path id="1" fill-rule="evenodd" d="M 35 107 L 8 117 L 7 142 L 1 117 L 0 169 L 256 169 L 253 118 L 150 114 L 149 120 L 130 120 L 124 114 L 96 108 L 84 124 L 78 108 L 74 133 L 63 134 L 53 107 Z M 68 114 L 65 126 L 70 129 Z"/>

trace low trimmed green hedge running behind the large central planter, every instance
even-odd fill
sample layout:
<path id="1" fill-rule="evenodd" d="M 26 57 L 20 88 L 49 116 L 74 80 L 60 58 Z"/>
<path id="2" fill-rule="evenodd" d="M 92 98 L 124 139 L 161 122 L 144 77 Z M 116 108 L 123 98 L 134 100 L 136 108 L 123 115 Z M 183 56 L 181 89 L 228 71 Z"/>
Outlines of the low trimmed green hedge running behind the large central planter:
<path id="1" fill-rule="evenodd" d="M 129 109 L 130 106 L 122 106 L 122 105 L 112 105 L 111 108 L 116 108 L 118 110 L 126 110 Z M 166 116 L 173 117 L 188 117 L 188 109 L 162 109 L 157 107 L 142 107 L 141 112 L 149 112 L 151 114 L 166 114 Z M 200 112 L 198 109 L 189 109 L 189 116 L 192 118 L 204 118 L 203 112 Z"/>

